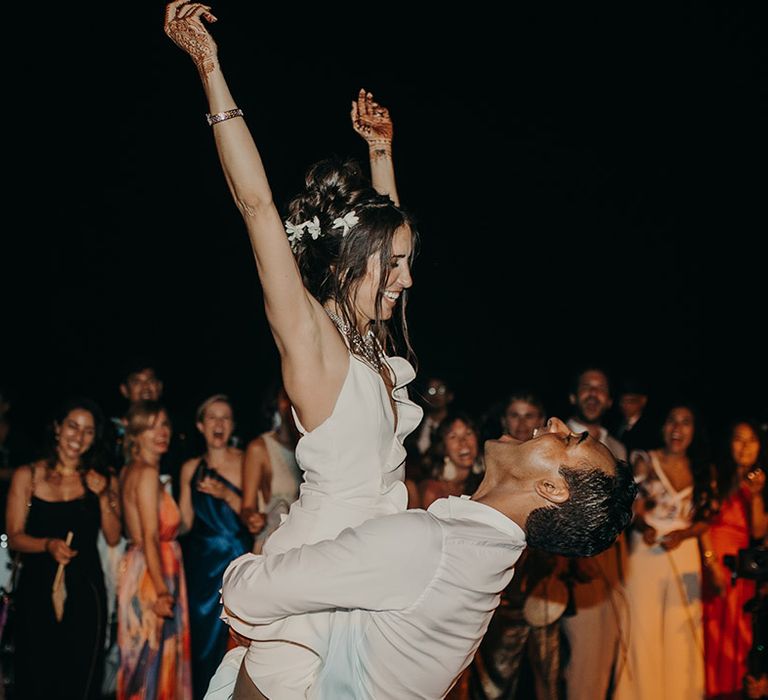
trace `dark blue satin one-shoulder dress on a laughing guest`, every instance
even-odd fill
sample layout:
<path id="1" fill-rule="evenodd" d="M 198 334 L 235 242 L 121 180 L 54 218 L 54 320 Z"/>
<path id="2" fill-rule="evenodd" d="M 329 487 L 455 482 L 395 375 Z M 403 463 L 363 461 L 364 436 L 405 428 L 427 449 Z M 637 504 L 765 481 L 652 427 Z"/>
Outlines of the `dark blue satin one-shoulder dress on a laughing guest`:
<path id="1" fill-rule="evenodd" d="M 202 477 L 220 481 L 230 491 L 241 490 L 219 472 L 210 469 L 205 458 L 195 471 Z M 238 514 L 223 500 L 192 488 L 195 520 L 184 538 L 184 571 L 189 598 L 192 635 L 192 690 L 202 698 L 208 681 L 227 650 L 229 632 L 221 615 L 221 577 L 235 558 L 250 551 L 251 536 Z"/>

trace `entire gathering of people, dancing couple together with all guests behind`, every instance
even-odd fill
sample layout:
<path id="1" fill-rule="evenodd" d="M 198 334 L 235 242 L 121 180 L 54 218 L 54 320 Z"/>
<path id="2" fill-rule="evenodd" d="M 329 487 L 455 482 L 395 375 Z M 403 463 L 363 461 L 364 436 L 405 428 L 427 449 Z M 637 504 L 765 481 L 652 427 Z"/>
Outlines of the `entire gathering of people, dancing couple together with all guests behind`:
<path id="1" fill-rule="evenodd" d="M 409 393 L 414 368 L 394 350 L 410 356 L 417 233 L 388 111 L 365 91 L 352 106 L 370 179 L 317 163 L 284 219 L 215 21 L 174 0 L 165 30 L 198 70 L 250 238 L 281 360 L 275 421 L 240 449 L 232 402 L 214 394 L 182 411 L 204 444 L 192 453 L 157 367 L 138 362 L 120 383 L 123 415 L 69 399 L 37 458 L 2 452 L 19 563 L 7 693 L 768 693 L 754 604 L 766 584 L 729 568 L 766 538 L 764 427 L 739 419 L 710 450 L 721 431 L 695 406 L 651 414 L 641 383 L 625 378 L 614 397 L 598 366 L 563 387 L 567 424 L 528 389 L 476 415 L 448 377 Z M 408 551 L 410 570 L 390 564 Z"/>

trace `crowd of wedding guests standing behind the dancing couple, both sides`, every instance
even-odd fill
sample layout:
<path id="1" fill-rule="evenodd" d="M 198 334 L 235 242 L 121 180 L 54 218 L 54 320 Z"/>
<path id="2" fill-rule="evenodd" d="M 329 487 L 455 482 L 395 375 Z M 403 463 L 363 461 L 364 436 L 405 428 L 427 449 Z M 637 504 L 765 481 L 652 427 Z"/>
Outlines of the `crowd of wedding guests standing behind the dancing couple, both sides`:
<path id="1" fill-rule="evenodd" d="M 737 576 L 733 558 L 765 544 L 765 427 L 738 419 L 708 433 L 691 404 L 649 412 L 641 384 L 618 384 L 614 407 L 607 374 L 581 371 L 568 424 L 632 464 L 640 495 L 630 529 L 594 557 L 529 548 L 449 697 L 764 692 L 755 690 L 753 634 L 765 620 L 747 605 L 760 582 Z M 409 508 L 472 495 L 483 440 L 529 440 L 547 421 L 530 391 L 471 415 L 457 408 L 448 380 L 419 386 L 424 417 L 405 440 Z M 10 697 L 104 698 L 118 687 L 120 697 L 153 697 L 148 688 L 168 684 L 177 697 L 203 697 L 233 645 L 220 619 L 224 571 L 260 552 L 299 496 L 300 433 L 279 383 L 268 402 L 273 425 L 242 450 L 227 396 L 191 411 L 204 445 L 194 456 L 183 454 L 189 446 L 170 450 L 173 426 L 153 366 L 132 366 L 120 387 L 123 416 L 107 421 L 92 400 L 71 399 L 39 459 L 18 464 L 6 452 L 6 533 L 23 563 L 15 600 L 24 620 L 5 679 Z M 59 565 L 60 620 L 51 596 Z M 157 627 L 146 624 L 153 616 Z M 50 674 L 39 673 L 41 637 L 60 650 Z"/>

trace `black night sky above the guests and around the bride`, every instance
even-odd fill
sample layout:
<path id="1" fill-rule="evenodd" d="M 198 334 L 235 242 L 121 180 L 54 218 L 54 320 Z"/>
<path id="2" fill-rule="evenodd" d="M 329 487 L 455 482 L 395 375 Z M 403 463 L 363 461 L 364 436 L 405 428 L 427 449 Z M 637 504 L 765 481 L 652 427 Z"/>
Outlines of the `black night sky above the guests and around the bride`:
<path id="1" fill-rule="evenodd" d="M 119 368 L 261 426 L 277 356 L 197 73 L 163 3 L 25 11 L 6 63 L 13 185 L 0 385 L 37 430 L 70 393 L 122 410 Z M 513 386 L 567 411 L 583 363 L 645 374 L 710 424 L 768 418 L 766 84 L 757 3 L 674 9 L 222 1 L 213 32 L 276 199 L 331 155 L 365 159 L 360 87 L 395 121 L 421 234 L 420 374 L 482 410 Z M 424 12 L 428 14 L 424 15 Z"/>

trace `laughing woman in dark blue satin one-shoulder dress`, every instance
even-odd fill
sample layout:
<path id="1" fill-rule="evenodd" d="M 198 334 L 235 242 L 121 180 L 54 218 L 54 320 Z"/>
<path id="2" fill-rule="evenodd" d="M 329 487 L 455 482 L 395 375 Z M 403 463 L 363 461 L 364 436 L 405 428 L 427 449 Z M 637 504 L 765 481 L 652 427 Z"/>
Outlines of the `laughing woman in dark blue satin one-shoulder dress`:
<path id="1" fill-rule="evenodd" d="M 232 406 L 223 394 L 206 399 L 197 411 L 197 429 L 206 452 L 181 469 L 179 506 L 184 538 L 189 622 L 192 636 L 192 689 L 202 698 L 227 650 L 228 627 L 219 619 L 221 577 L 229 562 L 253 546 L 240 521 L 243 453 L 229 446 Z"/>

